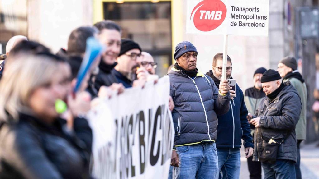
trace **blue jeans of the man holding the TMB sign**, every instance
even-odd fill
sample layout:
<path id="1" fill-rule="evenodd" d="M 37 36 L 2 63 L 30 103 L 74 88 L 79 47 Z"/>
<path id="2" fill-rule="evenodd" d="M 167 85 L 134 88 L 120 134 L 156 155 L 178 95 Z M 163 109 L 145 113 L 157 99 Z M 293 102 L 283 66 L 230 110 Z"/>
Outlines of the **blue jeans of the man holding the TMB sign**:
<path id="1" fill-rule="evenodd" d="M 216 144 L 196 144 L 176 147 L 180 164 L 174 167 L 175 179 L 217 179 Z"/>

